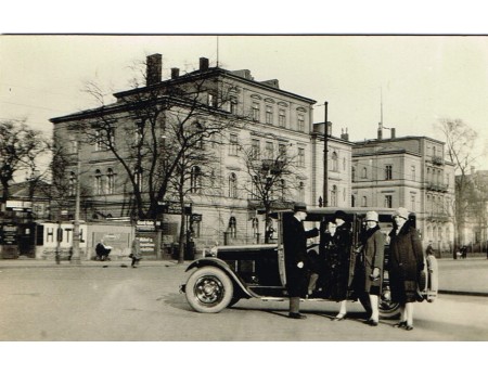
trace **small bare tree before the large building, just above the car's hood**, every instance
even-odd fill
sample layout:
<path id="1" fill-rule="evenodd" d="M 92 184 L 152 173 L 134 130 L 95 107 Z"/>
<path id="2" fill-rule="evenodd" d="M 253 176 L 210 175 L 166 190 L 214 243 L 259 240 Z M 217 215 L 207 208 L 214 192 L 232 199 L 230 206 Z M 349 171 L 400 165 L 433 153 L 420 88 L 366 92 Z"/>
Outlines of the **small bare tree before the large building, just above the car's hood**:
<path id="1" fill-rule="evenodd" d="M 286 145 L 261 157 L 260 150 L 249 145 L 243 150 L 243 162 L 249 182 L 244 186 L 257 208 L 265 211 L 265 243 L 272 234 L 270 214 L 273 208 L 290 207 L 300 189 L 296 155 L 291 155 Z"/>

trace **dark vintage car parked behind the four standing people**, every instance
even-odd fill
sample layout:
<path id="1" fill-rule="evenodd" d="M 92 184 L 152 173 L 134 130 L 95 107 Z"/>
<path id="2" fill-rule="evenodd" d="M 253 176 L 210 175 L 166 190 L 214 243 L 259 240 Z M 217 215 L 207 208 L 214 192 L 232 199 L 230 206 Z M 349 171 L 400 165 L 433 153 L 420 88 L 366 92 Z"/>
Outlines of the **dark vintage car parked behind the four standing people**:
<path id="1" fill-rule="evenodd" d="M 333 219 L 337 208 L 311 208 L 308 209 L 305 222 L 306 229 L 313 228 Z M 354 275 L 355 248 L 359 246 L 359 235 L 364 230 L 365 214 L 372 208 L 343 209 L 351 222 L 354 245 L 350 253 L 349 286 Z M 380 227 L 387 238 L 393 228 L 391 215 L 395 209 L 374 209 L 378 212 Z M 216 313 L 227 307 L 235 305 L 240 299 L 258 298 L 261 300 L 285 300 L 286 272 L 284 265 L 284 250 L 282 243 L 283 219 L 285 215 L 293 215 L 291 210 L 273 212 L 272 218 L 278 232 L 278 241 L 274 244 L 253 245 L 226 245 L 215 246 L 204 250 L 202 258 L 191 262 L 187 271 L 191 271 L 187 283 L 180 286 L 180 292 L 185 293 L 190 306 L 204 313 Z M 414 216 L 410 217 L 415 220 Z M 309 248 L 319 245 L 320 237 L 309 240 Z M 386 241 L 387 243 L 387 241 Z M 310 250 L 310 249 L 309 249 Z M 391 302 L 388 286 L 388 245 L 385 246 L 385 272 L 383 276 L 383 292 L 378 298 L 380 315 L 382 318 L 395 318 L 399 314 L 399 306 Z M 427 276 L 437 276 L 429 274 Z M 326 274 L 325 274 L 326 276 Z M 429 284 L 431 282 L 426 282 Z M 349 289 L 350 298 L 354 298 L 354 289 Z M 436 291 L 423 289 L 422 297 L 433 301 L 437 296 Z M 320 292 L 314 292 L 306 301 L 324 300 L 326 297 Z M 363 302 L 363 300 L 360 300 Z"/>

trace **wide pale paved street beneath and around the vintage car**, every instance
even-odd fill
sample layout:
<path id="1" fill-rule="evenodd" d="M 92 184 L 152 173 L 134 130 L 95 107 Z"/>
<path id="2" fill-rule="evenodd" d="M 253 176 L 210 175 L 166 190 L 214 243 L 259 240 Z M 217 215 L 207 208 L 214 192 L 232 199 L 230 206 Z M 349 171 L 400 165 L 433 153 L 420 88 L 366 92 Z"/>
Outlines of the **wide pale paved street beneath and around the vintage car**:
<path id="1" fill-rule="evenodd" d="M 485 260 L 486 261 L 486 260 Z M 488 262 L 488 261 L 487 261 Z M 464 262 L 459 267 L 465 267 Z M 486 266 L 485 262 L 483 267 Z M 447 268 L 458 266 L 449 262 Z M 478 262 L 473 262 L 478 266 Z M 187 265 L 106 262 L 89 267 L 0 267 L 3 341 L 477 341 L 488 339 L 488 298 L 439 295 L 415 305 L 414 330 L 333 322 L 334 301 L 304 301 L 307 320 L 286 318 L 286 301 L 241 300 L 217 314 L 194 312 L 178 288 Z"/>

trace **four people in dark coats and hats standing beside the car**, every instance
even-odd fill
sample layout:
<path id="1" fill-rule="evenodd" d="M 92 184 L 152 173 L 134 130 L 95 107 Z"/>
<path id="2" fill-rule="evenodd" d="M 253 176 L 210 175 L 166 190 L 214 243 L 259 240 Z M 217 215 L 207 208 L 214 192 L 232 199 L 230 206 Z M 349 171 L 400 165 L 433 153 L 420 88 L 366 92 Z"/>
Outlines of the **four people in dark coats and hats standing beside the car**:
<path id="1" fill-rule="evenodd" d="M 359 299 L 368 314 L 365 323 L 377 326 L 385 256 L 385 235 L 380 230 L 377 212 L 367 212 L 365 228 L 357 248 L 352 248 L 351 222 L 343 210 L 337 210 L 332 221 L 322 222 L 320 230 L 313 228 L 306 231 L 306 217 L 307 206 L 297 203 L 293 217 L 284 221 L 288 317 L 305 319 L 306 315 L 299 312 L 300 298 L 320 288 L 325 298 L 339 301 L 339 311 L 333 321 L 346 318 L 347 299 Z M 409 223 L 409 211 L 398 208 L 393 221 L 388 273 L 391 299 L 400 305 L 400 322 L 395 326 L 411 331 L 413 302 L 419 300 L 419 275 L 424 268 L 424 255 L 419 233 Z M 310 256 L 307 238 L 318 235 L 319 253 Z M 350 291 L 352 294 L 349 294 Z"/>

